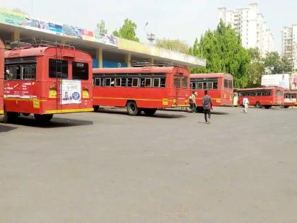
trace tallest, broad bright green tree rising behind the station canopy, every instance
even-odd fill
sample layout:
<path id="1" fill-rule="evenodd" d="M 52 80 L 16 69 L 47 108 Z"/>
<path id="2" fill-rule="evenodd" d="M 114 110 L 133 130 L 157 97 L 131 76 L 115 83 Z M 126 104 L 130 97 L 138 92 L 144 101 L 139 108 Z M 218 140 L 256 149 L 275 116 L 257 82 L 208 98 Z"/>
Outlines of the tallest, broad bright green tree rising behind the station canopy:
<path id="1" fill-rule="evenodd" d="M 240 43 L 238 35 L 220 21 L 216 30 L 207 30 L 198 42 L 195 40 L 192 54 L 206 59 L 206 67 L 192 69 L 192 73 L 224 72 L 233 75 L 235 87 L 248 85 L 248 68 L 251 57 Z"/>

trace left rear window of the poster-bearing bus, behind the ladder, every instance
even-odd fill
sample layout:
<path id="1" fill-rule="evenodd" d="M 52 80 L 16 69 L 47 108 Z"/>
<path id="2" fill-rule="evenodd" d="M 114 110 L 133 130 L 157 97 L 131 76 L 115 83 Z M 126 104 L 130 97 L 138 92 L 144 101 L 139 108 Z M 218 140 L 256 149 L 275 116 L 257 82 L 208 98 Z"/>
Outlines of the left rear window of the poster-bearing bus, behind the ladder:
<path id="1" fill-rule="evenodd" d="M 61 62 L 60 60 L 57 60 L 57 59 L 50 59 L 49 76 L 50 78 L 67 79 L 68 78 L 68 61 L 62 60 Z"/>

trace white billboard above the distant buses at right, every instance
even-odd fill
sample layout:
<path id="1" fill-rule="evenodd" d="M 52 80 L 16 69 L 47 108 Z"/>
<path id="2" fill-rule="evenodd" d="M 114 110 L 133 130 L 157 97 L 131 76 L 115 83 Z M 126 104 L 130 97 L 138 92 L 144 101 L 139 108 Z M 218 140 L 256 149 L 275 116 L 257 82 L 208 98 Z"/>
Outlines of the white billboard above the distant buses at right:
<path id="1" fill-rule="evenodd" d="M 289 74 L 267 74 L 262 76 L 262 86 L 279 86 L 281 88 L 290 88 Z"/>

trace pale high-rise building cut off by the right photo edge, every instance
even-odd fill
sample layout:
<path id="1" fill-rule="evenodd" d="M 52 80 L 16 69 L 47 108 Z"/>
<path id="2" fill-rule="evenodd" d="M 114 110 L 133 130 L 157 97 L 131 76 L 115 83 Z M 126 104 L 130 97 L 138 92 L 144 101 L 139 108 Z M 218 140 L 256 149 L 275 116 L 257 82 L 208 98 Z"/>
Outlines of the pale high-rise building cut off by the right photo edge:
<path id="1" fill-rule="evenodd" d="M 285 26 L 281 31 L 281 55 L 297 69 L 297 25 Z"/>

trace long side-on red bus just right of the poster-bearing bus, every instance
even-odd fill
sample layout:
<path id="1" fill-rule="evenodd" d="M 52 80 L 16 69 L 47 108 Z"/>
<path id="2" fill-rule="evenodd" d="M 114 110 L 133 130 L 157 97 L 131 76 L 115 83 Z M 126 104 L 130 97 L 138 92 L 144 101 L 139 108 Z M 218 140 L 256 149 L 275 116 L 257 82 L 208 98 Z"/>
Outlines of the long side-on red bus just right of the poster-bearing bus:
<path id="1" fill-rule="evenodd" d="M 181 67 L 93 69 L 93 104 L 127 107 L 129 115 L 189 106 L 189 77 Z"/>

